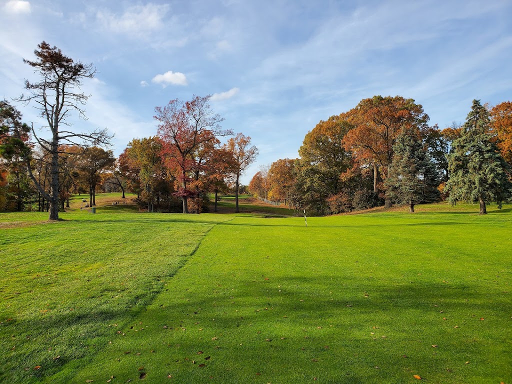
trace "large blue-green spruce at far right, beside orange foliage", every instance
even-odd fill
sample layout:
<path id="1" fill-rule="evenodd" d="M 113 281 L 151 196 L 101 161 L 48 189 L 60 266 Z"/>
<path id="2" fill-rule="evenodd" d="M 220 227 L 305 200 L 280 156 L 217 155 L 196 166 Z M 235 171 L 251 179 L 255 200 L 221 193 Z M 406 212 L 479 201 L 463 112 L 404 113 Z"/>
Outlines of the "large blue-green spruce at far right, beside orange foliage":
<path id="1" fill-rule="evenodd" d="M 449 201 L 480 203 L 480 215 L 487 214 L 486 204 L 496 201 L 498 208 L 510 196 L 508 164 L 489 134 L 490 118 L 480 100 L 473 100 L 471 112 L 462 127 L 462 135 L 452 144 L 449 155 L 450 180 L 446 184 Z"/>

